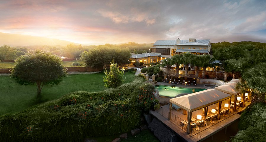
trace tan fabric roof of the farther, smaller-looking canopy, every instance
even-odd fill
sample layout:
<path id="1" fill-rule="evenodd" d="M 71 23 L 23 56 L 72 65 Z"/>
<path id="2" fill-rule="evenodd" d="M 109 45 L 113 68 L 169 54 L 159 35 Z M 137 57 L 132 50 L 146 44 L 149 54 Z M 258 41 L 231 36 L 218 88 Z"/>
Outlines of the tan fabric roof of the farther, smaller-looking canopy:
<path id="1" fill-rule="evenodd" d="M 228 83 L 228 84 L 225 84 L 225 85 L 221 85 L 221 86 L 215 87 L 215 89 L 219 90 L 219 91 L 222 91 L 224 93 L 231 94 L 231 95 L 239 95 L 239 94 L 241 94 L 240 91 L 236 90 L 235 85 L 236 85 L 236 82 L 231 82 L 231 83 Z"/>

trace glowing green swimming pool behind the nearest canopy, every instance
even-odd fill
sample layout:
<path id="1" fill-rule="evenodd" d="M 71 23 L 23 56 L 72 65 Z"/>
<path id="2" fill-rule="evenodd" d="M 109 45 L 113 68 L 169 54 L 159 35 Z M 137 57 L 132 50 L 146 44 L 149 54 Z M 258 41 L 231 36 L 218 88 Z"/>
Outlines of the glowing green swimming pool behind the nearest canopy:
<path id="1" fill-rule="evenodd" d="M 195 93 L 199 91 L 203 91 L 206 89 L 203 88 L 181 88 L 181 87 L 172 87 L 172 86 L 165 86 L 165 85 L 158 85 L 155 86 L 155 89 L 159 91 L 159 95 L 163 97 L 169 97 L 169 98 L 174 98 L 175 96 L 183 96 L 182 94 L 187 93 Z M 186 95 L 186 94 L 184 94 Z"/>

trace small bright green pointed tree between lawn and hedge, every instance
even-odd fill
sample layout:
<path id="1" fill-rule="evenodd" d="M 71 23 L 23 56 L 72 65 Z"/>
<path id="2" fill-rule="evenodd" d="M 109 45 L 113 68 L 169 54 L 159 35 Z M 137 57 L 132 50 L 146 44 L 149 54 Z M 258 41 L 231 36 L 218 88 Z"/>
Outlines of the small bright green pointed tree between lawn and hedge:
<path id="1" fill-rule="evenodd" d="M 107 69 L 105 69 L 104 73 L 106 76 L 103 77 L 103 82 L 106 88 L 116 88 L 123 83 L 124 72 L 119 71 L 119 67 L 113 60 L 110 65 L 110 71 L 108 72 Z"/>

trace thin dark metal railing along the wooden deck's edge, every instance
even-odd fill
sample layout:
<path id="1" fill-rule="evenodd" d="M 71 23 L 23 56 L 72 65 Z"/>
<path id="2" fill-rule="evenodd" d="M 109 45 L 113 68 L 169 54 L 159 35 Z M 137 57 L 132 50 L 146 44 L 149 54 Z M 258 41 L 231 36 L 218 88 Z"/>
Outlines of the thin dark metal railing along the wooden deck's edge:
<path id="1" fill-rule="evenodd" d="M 155 103 L 155 102 L 154 102 Z M 233 111 L 233 108 L 229 108 L 226 111 L 223 111 L 221 113 L 215 113 L 207 116 L 207 119 L 202 119 L 202 120 L 196 120 L 195 122 L 191 123 L 191 133 L 187 133 L 189 136 L 194 136 L 207 128 L 210 128 L 213 125 L 216 125 L 217 123 L 233 116 L 236 113 L 239 113 L 243 111 L 245 107 L 240 107 L 240 105 L 236 106 L 236 111 Z M 169 109 L 165 109 L 162 106 L 160 109 L 155 110 L 157 113 L 162 115 L 164 118 L 169 117 Z M 195 117 L 195 116 L 192 116 Z M 171 121 L 175 126 L 177 126 L 179 129 L 182 131 L 186 132 L 188 122 L 187 120 L 183 120 L 180 117 L 174 115 L 171 113 Z"/>

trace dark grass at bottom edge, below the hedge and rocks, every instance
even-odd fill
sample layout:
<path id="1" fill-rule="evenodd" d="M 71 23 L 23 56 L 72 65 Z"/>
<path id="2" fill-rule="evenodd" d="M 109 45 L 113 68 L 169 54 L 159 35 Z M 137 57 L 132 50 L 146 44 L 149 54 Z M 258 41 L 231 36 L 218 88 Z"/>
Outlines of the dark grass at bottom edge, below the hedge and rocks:
<path id="1" fill-rule="evenodd" d="M 93 140 L 97 141 L 102 141 L 102 142 L 109 142 L 113 141 L 115 138 L 119 138 L 118 136 L 105 136 L 105 137 L 97 137 L 97 138 L 90 138 Z M 154 136 L 153 132 L 150 130 L 144 130 L 140 131 L 135 136 L 132 136 L 131 133 L 127 133 L 127 139 L 126 140 L 121 140 L 121 142 L 159 142 L 159 140 Z"/>

